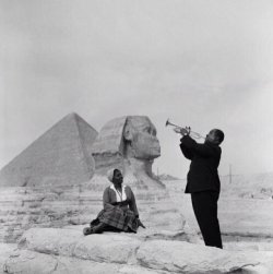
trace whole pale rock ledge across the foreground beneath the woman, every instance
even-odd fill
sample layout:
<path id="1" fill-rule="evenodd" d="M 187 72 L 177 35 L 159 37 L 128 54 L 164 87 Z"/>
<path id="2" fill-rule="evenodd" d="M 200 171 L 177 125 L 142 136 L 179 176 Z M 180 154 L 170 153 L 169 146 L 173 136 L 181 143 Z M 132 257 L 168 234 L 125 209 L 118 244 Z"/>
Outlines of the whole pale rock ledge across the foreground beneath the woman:
<path id="1" fill-rule="evenodd" d="M 258 264 L 244 252 L 124 233 L 84 237 L 73 229 L 32 228 L 19 248 L 4 263 L 8 273 L 217 274 Z"/>

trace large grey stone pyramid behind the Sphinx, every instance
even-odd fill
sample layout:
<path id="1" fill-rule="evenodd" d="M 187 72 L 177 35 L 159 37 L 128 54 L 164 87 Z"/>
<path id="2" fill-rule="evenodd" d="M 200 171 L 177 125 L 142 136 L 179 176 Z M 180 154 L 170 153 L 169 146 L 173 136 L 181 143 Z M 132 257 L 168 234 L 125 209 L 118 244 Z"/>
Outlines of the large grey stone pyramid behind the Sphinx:
<path id="1" fill-rule="evenodd" d="M 95 163 L 91 146 L 97 136 L 76 114 L 46 131 L 0 171 L 0 186 L 74 184 L 90 180 Z"/>

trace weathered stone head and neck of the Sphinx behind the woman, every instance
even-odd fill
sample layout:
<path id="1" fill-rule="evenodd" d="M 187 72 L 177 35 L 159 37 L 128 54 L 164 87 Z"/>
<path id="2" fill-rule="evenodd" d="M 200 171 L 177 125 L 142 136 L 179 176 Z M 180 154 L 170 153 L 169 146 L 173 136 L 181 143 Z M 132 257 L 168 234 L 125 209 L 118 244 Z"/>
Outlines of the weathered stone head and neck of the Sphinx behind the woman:
<path id="1" fill-rule="evenodd" d="M 123 170 L 124 182 L 136 189 L 165 189 L 152 172 L 161 146 L 155 126 L 146 116 L 108 121 L 93 144 L 92 155 L 95 175 L 105 175 L 110 167 L 117 167 Z"/>

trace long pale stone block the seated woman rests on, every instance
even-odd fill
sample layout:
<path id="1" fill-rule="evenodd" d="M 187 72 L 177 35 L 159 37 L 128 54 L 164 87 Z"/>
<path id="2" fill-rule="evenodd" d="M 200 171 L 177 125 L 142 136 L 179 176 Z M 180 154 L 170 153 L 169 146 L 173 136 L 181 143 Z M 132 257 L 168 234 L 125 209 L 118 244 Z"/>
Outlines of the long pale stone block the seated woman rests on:
<path id="1" fill-rule="evenodd" d="M 58 255 L 69 255 L 96 262 L 127 263 L 134 261 L 141 241 L 126 234 L 83 236 L 73 229 L 31 228 L 19 247 Z"/>

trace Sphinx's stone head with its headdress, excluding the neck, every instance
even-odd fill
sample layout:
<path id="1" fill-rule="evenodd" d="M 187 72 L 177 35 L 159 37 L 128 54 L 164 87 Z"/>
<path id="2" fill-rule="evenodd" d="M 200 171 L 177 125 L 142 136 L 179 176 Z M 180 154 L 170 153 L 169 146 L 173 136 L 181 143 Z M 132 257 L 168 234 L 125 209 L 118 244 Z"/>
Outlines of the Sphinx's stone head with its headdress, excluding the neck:
<path id="1" fill-rule="evenodd" d="M 146 116 L 115 118 L 102 128 L 92 155 L 96 171 L 109 166 L 123 168 L 124 159 L 153 162 L 161 156 L 156 129 Z"/>

